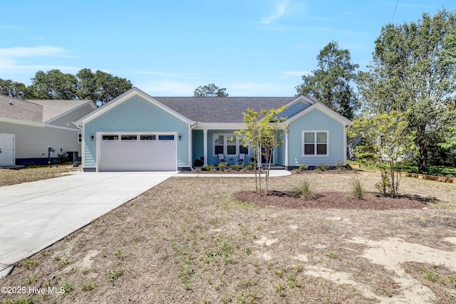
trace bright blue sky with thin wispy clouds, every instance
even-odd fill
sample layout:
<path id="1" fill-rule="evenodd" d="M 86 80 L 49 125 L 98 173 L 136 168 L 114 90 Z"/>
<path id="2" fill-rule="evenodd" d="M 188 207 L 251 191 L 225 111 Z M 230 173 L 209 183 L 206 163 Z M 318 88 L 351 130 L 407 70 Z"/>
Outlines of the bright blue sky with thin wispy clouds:
<path id="1" fill-rule="evenodd" d="M 81 68 L 128 78 L 152 96 L 292 96 L 330 41 L 360 69 L 387 23 L 455 11 L 455 0 L 0 0 L 0 78 Z"/>

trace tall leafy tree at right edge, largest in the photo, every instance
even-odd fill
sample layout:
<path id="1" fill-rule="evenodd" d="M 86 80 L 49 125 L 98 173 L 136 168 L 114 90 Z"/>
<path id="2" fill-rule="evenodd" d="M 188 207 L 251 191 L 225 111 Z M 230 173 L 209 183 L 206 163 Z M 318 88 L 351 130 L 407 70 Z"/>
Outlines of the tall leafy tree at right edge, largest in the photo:
<path id="1" fill-rule="evenodd" d="M 370 70 L 358 73 L 366 109 L 408 111 L 420 148 L 419 172 L 427 172 L 432 139 L 452 122 L 447 103 L 456 91 L 456 62 L 443 51 L 454 51 L 455 27 L 455 14 L 445 10 L 423 14 L 418 22 L 388 24 L 375 41 Z"/>

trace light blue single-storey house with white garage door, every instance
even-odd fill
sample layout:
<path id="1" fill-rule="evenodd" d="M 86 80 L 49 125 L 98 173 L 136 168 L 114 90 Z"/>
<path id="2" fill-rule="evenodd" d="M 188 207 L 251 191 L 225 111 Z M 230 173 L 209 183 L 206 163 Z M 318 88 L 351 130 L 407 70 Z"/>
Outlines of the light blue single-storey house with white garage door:
<path id="1" fill-rule="evenodd" d="M 274 150 L 274 164 L 346 163 L 346 134 L 351 120 L 314 98 L 152 97 L 132 88 L 74 122 L 83 132 L 82 164 L 95 171 L 176 171 L 190 169 L 195 159 L 217 164 L 224 153 L 229 163 L 243 147 L 234 136 L 246 127 L 243 112 L 280 108 L 289 133 Z"/>

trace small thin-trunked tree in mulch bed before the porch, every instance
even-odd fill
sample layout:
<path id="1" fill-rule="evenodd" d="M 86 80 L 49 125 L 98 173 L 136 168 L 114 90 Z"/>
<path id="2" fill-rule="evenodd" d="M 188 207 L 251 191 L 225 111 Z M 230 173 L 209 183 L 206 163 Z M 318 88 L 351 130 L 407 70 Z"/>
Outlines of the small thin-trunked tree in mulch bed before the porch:
<path id="1" fill-rule="evenodd" d="M 284 107 L 279 109 L 261 110 L 261 114 L 247 108 L 244 114 L 244 122 L 247 128 L 235 131 L 242 145 L 249 147 L 254 152 L 255 162 L 255 187 L 257 194 L 261 195 L 261 155 L 266 159 L 266 174 L 264 192 L 268 194 L 269 171 L 271 169 L 272 152 L 275 147 L 284 143 L 282 135 L 288 132 L 284 118 L 279 117 Z M 262 117 L 261 117 L 262 116 Z M 261 117 L 261 119 L 259 119 Z M 257 164 L 257 162 L 259 162 Z M 257 175 L 258 173 L 258 175 Z"/>

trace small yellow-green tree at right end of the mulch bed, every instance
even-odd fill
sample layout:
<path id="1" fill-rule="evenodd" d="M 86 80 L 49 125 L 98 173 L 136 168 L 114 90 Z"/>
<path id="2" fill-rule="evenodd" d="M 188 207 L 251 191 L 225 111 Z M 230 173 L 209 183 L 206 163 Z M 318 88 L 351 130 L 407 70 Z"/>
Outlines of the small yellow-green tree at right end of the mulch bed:
<path id="1" fill-rule="evenodd" d="M 398 196 L 398 163 L 415 150 L 415 135 L 408 130 L 407 113 L 396 111 L 360 117 L 347 130 L 349 137 L 362 137 L 355 150 L 356 157 L 380 167 L 381 179 L 375 186 L 385 196 Z"/>

